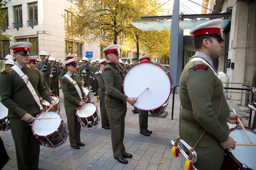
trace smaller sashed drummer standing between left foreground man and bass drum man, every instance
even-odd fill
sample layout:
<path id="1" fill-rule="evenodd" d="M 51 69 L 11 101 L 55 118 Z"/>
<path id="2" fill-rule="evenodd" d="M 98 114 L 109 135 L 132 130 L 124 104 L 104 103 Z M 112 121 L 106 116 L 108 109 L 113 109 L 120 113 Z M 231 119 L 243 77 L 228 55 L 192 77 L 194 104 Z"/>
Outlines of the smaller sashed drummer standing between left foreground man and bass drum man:
<path id="1" fill-rule="evenodd" d="M 77 58 L 68 59 L 66 62 L 67 74 L 61 78 L 61 89 L 64 94 L 64 106 L 67 115 L 67 127 L 69 131 L 70 146 L 74 149 L 80 149 L 84 146 L 81 143 L 80 132 L 81 125 L 76 117 L 76 107 L 84 106 L 83 98 L 86 96 L 82 81 L 77 72 Z"/>

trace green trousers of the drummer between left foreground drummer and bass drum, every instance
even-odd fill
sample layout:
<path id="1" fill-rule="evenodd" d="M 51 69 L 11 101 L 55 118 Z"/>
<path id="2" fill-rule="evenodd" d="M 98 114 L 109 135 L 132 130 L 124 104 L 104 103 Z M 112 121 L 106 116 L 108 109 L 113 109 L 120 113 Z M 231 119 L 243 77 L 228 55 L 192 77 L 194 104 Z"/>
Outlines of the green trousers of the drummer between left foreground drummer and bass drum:
<path id="1" fill-rule="evenodd" d="M 70 139 L 70 145 L 77 146 L 78 143 L 81 143 L 81 125 L 76 117 L 76 105 L 65 106 L 65 111 L 67 115 L 67 128 L 69 131 L 68 136 Z"/>

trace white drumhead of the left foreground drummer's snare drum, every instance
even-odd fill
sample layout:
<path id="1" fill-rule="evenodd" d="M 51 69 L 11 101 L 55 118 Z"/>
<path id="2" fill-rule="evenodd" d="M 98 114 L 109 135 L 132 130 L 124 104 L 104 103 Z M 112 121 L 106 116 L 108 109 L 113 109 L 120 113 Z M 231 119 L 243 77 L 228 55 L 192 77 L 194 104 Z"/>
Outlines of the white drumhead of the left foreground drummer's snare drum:
<path id="1" fill-rule="evenodd" d="M 44 115 L 45 111 L 41 112 L 37 118 L 41 118 Z M 32 123 L 32 130 L 39 136 L 47 136 L 61 125 L 61 116 L 55 111 L 48 111 L 44 118 L 52 118 L 56 117 L 57 119 L 42 119 L 42 120 L 34 120 Z"/>

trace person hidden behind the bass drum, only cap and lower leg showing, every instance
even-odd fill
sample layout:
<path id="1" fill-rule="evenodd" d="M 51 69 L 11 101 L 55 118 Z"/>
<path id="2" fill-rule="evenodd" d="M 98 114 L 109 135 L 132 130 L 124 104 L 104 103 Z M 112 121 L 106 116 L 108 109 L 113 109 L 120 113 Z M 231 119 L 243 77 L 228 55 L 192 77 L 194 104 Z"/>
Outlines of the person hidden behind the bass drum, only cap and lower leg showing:
<path id="1" fill-rule="evenodd" d="M 140 62 L 142 61 L 150 61 L 150 54 L 147 54 L 145 56 L 142 56 L 138 59 Z M 150 136 L 150 133 L 152 133 L 151 130 L 148 130 L 148 111 L 142 111 L 139 110 L 139 124 L 140 124 L 140 134 L 143 134 L 144 136 Z"/>

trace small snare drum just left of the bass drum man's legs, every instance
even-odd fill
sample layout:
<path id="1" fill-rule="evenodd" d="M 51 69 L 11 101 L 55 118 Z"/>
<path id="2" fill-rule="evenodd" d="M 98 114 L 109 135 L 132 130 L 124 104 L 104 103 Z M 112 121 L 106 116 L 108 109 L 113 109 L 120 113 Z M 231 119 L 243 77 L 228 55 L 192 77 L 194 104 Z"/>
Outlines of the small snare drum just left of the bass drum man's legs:
<path id="1" fill-rule="evenodd" d="M 86 130 L 92 130 L 99 126 L 100 116 L 98 114 L 98 108 L 93 102 L 86 102 L 80 110 L 78 106 L 76 108 L 76 116 L 81 127 Z"/>

